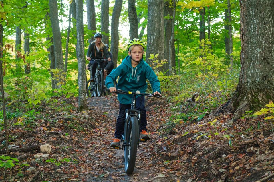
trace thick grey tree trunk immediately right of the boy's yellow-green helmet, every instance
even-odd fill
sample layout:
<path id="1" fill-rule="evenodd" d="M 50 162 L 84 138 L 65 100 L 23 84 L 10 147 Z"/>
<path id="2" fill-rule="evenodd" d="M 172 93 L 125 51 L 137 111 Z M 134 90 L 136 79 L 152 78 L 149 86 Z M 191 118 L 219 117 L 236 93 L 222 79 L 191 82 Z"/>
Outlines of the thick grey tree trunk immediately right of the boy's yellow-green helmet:
<path id="1" fill-rule="evenodd" d="M 148 45 L 146 51 L 146 62 L 152 64 L 148 59 L 150 54 L 159 54 L 157 59 L 164 59 L 164 1 L 148 0 Z M 160 68 L 159 70 L 163 70 Z"/>

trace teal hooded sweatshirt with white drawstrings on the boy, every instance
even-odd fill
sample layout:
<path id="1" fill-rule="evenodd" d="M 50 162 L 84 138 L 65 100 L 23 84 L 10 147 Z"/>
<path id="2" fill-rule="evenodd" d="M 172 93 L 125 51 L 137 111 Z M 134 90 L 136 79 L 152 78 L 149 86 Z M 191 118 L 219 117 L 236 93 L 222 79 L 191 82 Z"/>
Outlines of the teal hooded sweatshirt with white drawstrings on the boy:
<path id="1" fill-rule="evenodd" d="M 150 82 L 153 92 L 160 92 L 160 81 L 151 67 L 141 59 L 140 63 L 133 68 L 130 56 L 127 56 L 116 69 L 106 77 L 107 88 L 114 87 L 114 80 L 119 76 L 116 88 L 124 91 L 146 93 L 146 79 Z M 161 92 L 160 92 L 161 93 Z M 130 104 L 132 95 L 118 94 L 118 100 L 122 104 Z"/>

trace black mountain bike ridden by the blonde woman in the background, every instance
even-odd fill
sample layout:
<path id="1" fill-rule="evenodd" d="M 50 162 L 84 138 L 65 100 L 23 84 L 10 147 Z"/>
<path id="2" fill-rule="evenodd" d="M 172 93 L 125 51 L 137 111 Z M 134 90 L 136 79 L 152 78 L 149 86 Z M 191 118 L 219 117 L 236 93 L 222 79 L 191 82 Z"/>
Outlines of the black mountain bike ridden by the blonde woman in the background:
<path id="1" fill-rule="evenodd" d="M 102 96 L 104 92 L 104 74 L 103 74 L 104 68 L 100 67 L 100 63 L 102 61 L 107 61 L 107 59 L 91 59 L 91 60 L 97 61 L 97 67 L 96 67 L 96 73 L 94 76 L 94 81 L 90 79 L 86 83 L 87 96 L 89 96 L 90 94 L 90 97 L 100 97 Z M 88 68 L 88 70 L 91 71 L 90 68 Z"/>

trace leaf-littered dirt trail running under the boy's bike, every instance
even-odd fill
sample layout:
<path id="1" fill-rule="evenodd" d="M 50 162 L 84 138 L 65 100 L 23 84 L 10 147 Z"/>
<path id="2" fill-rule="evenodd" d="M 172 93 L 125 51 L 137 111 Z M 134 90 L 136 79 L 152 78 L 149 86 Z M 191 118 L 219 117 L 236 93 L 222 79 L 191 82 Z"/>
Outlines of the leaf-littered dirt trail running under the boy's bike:
<path id="1" fill-rule="evenodd" d="M 87 181 L 174 181 L 174 178 L 164 177 L 159 170 L 154 167 L 153 163 L 157 161 L 151 160 L 149 153 L 153 150 L 152 140 L 146 143 L 140 143 L 138 149 L 136 166 L 132 175 L 124 173 L 124 150 L 115 150 L 110 148 L 110 143 L 114 137 L 116 118 L 119 113 L 119 104 L 116 96 L 103 96 L 96 98 L 88 98 L 88 106 L 91 111 L 96 112 L 101 117 L 96 137 L 92 138 L 94 145 L 87 151 L 90 158 L 87 160 L 92 166 L 92 175 L 88 175 Z M 155 131 L 157 125 L 151 122 L 148 109 L 148 129 L 150 132 Z M 98 119 L 97 119 L 98 121 Z M 156 166 L 156 165 L 155 165 Z M 159 173 L 159 175 L 158 175 Z"/>

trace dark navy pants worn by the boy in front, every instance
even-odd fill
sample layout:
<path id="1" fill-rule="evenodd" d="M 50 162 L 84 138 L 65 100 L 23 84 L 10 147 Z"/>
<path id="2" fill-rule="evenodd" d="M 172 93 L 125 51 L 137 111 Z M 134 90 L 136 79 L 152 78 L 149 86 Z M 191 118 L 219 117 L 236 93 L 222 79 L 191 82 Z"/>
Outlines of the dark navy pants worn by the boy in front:
<path id="1" fill-rule="evenodd" d="M 119 116 L 116 121 L 116 129 L 114 133 L 114 137 L 118 139 L 122 139 L 122 135 L 124 133 L 125 127 L 125 119 L 126 119 L 126 109 L 131 109 L 131 104 L 121 104 L 119 103 Z M 141 113 L 141 124 L 140 124 L 140 132 L 142 130 L 146 130 L 146 107 L 145 107 L 145 96 L 140 96 L 136 98 L 136 109 L 142 111 Z"/>

